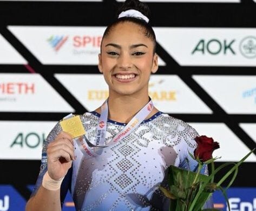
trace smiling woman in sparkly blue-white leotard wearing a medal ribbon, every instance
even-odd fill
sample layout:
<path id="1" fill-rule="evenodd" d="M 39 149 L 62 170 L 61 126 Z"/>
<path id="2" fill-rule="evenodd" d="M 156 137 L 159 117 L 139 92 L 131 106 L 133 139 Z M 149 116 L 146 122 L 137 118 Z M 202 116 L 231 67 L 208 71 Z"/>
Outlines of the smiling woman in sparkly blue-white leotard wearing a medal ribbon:
<path id="1" fill-rule="evenodd" d="M 86 135 L 72 139 L 58 123 L 43 146 L 41 171 L 27 210 L 61 210 L 68 189 L 76 210 L 168 210 L 157 188 L 170 165 L 196 168 L 188 155 L 196 131 L 162 114 L 148 97 L 157 71 L 155 34 L 148 7 L 126 1 L 106 29 L 99 70 L 109 98 L 80 116 Z"/>

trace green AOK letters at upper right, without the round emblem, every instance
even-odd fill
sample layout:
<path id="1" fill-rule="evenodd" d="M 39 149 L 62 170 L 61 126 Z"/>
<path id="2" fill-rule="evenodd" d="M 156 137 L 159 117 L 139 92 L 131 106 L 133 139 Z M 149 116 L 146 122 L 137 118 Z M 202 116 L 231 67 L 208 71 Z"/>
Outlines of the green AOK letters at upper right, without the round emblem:
<path id="1" fill-rule="evenodd" d="M 218 54 L 231 54 L 235 55 L 235 51 L 233 49 L 233 44 L 235 43 L 235 39 L 232 40 L 220 40 L 220 39 L 200 39 L 200 41 L 195 45 L 195 48 L 192 50 L 193 54 L 210 54 L 210 55 L 218 55 Z"/>

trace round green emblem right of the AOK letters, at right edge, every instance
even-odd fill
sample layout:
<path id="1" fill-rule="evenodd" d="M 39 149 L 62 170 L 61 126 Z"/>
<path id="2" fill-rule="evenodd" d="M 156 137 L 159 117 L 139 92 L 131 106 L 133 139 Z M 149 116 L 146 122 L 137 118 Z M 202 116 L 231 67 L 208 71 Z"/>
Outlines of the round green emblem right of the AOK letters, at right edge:
<path id="1" fill-rule="evenodd" d="M 240 51 L 246 58 L 256 57 L 256 37 L 249 36 L 242 39 L 240 43 Z"/>

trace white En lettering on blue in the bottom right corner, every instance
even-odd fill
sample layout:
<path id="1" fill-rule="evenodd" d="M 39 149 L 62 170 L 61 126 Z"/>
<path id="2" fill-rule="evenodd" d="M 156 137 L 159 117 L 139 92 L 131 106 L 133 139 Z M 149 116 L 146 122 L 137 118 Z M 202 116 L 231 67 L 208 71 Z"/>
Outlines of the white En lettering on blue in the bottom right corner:
<path id="1" fill-rule="evenodd" d="M 252 202 L 241 202 L 241 199 L 237 197 L 230 198 L 228 201 L 231 211 L 256 211 L 256 198 L 254 198 Z"/>

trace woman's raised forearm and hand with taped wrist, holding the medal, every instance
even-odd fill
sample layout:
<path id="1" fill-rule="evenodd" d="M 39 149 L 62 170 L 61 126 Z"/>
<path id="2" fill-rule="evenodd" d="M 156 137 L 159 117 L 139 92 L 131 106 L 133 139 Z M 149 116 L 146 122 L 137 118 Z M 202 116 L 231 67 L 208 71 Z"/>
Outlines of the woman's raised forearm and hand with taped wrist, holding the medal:
<path id="1" fill-rule="evenodd" d="M 51 136 L 51 133 L 50 135 Z M 48 137 L 49 137 L 48 136 Z M 48 144 L 46 142 L 45 144 Z M 71 136 L 65 132 L 59 133 L 54 141 L 44 146 L 44 150 L 47 148 L 47 167 L 43 166 L 43 162 L 46 160 L 42 159 L 41 173 L 38 177 L 35 194 L 27 202 L 26 210 L 61 210 L 61 199 L 60 199 L 60 187 L 51 190 L 46 185 L 42 186 L 42 176 L 48 172 L 50 179 L 60 180 L 64 177 L 69 168 L 71 167 L 72 160 L 74 160 L 74 147 Z M 46 179 L 45 179 L 46 178 Z M 44 183 L 47 184 L 47 177 L 43 177 Z"/>

